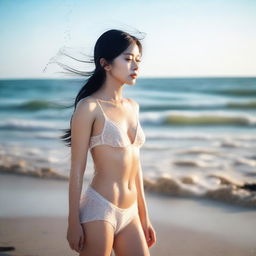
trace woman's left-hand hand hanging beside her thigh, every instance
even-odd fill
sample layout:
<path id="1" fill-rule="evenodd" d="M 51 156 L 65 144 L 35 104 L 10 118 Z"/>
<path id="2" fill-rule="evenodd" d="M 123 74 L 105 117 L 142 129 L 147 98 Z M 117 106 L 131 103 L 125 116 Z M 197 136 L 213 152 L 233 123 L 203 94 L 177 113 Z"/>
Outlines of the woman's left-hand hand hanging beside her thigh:
<path id="1" fill-rule="evenodd" d="M 85 235 L 82 225 L 79 222 L 75 224 L 69 223 L 67 230 L 67 240 L 69 242 L 70 248 L 77 251 L 78 253 L 81 252 L 84 247 L 84 238 Z"/>

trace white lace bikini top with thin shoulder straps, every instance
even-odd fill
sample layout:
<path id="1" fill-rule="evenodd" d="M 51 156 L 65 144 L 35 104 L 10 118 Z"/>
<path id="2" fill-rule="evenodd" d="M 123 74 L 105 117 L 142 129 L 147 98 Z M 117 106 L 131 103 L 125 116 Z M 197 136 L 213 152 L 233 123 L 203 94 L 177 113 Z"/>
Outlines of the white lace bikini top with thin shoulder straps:
<path id="1" fill-rule="evenodd" d="M 99 104 L 104 116 L 104 126 L 101 134 L 90 137 L 90 150 L 98 145 L 109 145 L 112 147 L 128 147 L 134 145 L 141 147 L 145 143 L 146 137 L 140 125 L 138 111 L 136 112 L 137 127 L 135 131 L 135 137 L 133 142 L 131 142 L 127 133 L 116 122 L 108 118 L 99 100 L 96 99 L 96 101 Z"/>

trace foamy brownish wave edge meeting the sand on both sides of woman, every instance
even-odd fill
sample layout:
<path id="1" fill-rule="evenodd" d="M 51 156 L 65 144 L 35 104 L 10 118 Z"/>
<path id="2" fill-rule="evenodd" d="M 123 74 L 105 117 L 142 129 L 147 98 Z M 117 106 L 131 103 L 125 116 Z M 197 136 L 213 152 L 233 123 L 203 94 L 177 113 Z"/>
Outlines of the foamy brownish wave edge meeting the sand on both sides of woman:
<path id="1" fill-rule="evenodd" d="M 13 162 L 8 159 L 0 159 L 0 173 L 69 180 L 68 175 L 61 174 L 54 168 L 36 167 L 25 160 Z M 152 193 L 177 197 L 208 198 L 256 208 L 256 183 L 236 181 L 220 174 L 208 174 L 207 177 L 214 179 L 213 185 L 202 182 L 196 176 L 185 175 L 174 178 L 167 174 L 155 178 L 144 177 L 143 183 L 145 190 Z"/>

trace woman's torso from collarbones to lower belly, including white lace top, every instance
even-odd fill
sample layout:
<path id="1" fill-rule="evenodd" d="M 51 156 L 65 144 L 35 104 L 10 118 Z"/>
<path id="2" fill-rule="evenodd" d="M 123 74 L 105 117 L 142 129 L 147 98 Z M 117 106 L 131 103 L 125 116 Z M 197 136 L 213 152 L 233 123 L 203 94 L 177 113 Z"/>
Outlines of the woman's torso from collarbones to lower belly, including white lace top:
<path id="1" fill-rule="evenodd" d="M 135 179 L 145 142 L 139 113 L 128 99 L 121 107 L 91 99 L 97 104 L 90 138 L 95 171 L 91 186 L 117 207 L 128 208 L 137 197 Z"/>

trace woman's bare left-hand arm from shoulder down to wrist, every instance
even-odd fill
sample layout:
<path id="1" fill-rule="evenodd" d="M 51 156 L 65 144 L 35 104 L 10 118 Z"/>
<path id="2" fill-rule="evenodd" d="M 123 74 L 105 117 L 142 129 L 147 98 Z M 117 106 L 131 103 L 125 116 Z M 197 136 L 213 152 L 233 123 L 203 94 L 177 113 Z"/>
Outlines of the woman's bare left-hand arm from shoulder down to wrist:
<path id="1" fill-rule="evenodd" d="M 80 100 L 72 117 L 68 216 L 71 225 L 80 223 L 79 202 L 87 163 L 89 139 L 95 118 L 95 107 L 95 103 L 88 99 Z"/>

